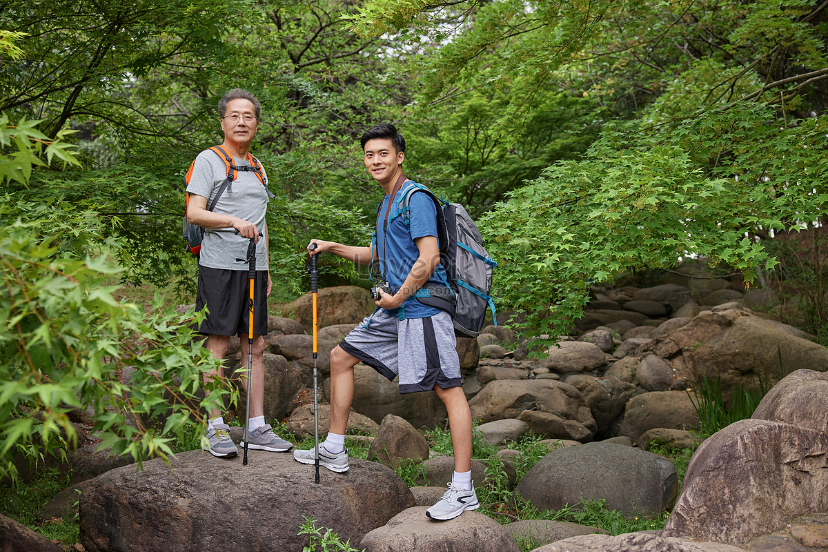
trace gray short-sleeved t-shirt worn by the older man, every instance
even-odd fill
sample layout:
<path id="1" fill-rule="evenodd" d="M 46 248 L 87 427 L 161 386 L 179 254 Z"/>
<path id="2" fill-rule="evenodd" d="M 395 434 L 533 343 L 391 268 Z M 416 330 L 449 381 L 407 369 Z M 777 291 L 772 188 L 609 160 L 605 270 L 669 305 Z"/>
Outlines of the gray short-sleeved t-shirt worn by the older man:
<path id="1" fill-rule="evenodd" d="M 250 166 L 247 160 L 233 157 L 233 165 Z M 262 174 L 267 181 L 267 172 L 262 167 Z M 202 151 L 195 158 L 193 174 L 187 192 L 207 198 L 207 204 L 219 191 L 222 182 L 227 180 L 227 166 L 214 151 Z M 239 170 L 233 180 L 215 204 L 214 213 L 229 214 L 255 223 L 259 232 L 264 233 L 265 213 L 267 211 L 267 189 L 258 180 L 252 170 Z M 199 264 L 208 268 L 222 268 L 231 271 L 246 271 L 245 262 L 250 240 L 234 233 L 233 228 L 205 228 L 205 238 L 201 242 Z M 256 246 L 256 270 L 267 270 L 267 242 L 259 238 Z"/>

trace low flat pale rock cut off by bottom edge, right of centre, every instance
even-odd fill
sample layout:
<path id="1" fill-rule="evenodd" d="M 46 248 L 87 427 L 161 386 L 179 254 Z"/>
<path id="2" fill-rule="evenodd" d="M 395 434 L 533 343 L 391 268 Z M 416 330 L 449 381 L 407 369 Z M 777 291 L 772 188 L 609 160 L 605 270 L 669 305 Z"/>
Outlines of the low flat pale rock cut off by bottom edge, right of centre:
<path id="1" fill-rule="evenodd" d="M 741 548 L 720 542 L 694 542 L 676 538 L 662 538 L 647 532 L 625 535 L 581 535 L 558 540 L 532 552 L 744 552 Z M 783 552 L 778 550 L 778 552 Z"/>

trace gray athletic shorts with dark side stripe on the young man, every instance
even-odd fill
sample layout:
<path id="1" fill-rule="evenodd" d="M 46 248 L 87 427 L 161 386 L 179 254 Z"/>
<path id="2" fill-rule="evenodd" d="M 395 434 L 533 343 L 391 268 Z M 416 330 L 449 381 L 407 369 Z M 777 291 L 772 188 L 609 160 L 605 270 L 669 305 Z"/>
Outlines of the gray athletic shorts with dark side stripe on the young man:
<path id="1" fill-rule="evenodd" d="M 397 319 L 384 310 L 368 316 L 339 343 L 349 353 L 393 380 L 400 393 L 460 386 L 455 326 L 451 315 Z"/>

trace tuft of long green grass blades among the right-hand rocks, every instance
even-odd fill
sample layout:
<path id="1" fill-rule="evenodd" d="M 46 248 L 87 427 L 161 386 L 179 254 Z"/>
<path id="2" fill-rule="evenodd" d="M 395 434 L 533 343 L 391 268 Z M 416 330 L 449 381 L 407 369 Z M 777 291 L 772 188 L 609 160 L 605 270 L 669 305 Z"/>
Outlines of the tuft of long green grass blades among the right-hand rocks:
<path id="1" fill-rule="evenodd" d="M 693 389 L 692 394 L 687 391 L 687 396 L 696 410 L 696 415 L 699 416 L 700 433 L 710 436 L 736 421 L 750 418 L 770 389 L 769 382 L 763 381 L 761 377 L 758 379 L 758 385 L 754 387 L 747 388 L 741 382 L 737 382 L 731 390 L 733 397 L 728 400 L 720 377 L 710 380 L 702 376 L 699 385 Z"/>

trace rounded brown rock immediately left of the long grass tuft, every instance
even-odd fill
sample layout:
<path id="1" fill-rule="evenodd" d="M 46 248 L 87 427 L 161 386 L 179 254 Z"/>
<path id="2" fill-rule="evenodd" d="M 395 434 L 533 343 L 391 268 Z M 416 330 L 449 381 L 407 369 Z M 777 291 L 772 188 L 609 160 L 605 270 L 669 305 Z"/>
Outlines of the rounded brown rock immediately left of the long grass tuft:
<path id="1" fill-rule="evenodd" d="M 624 410 L 619 434 L 638 443 L 644 432 L 663 427 L 690 430 L 699 425 L 699 416 L 684 391 L 651 391 L 633 396 Z"/>

